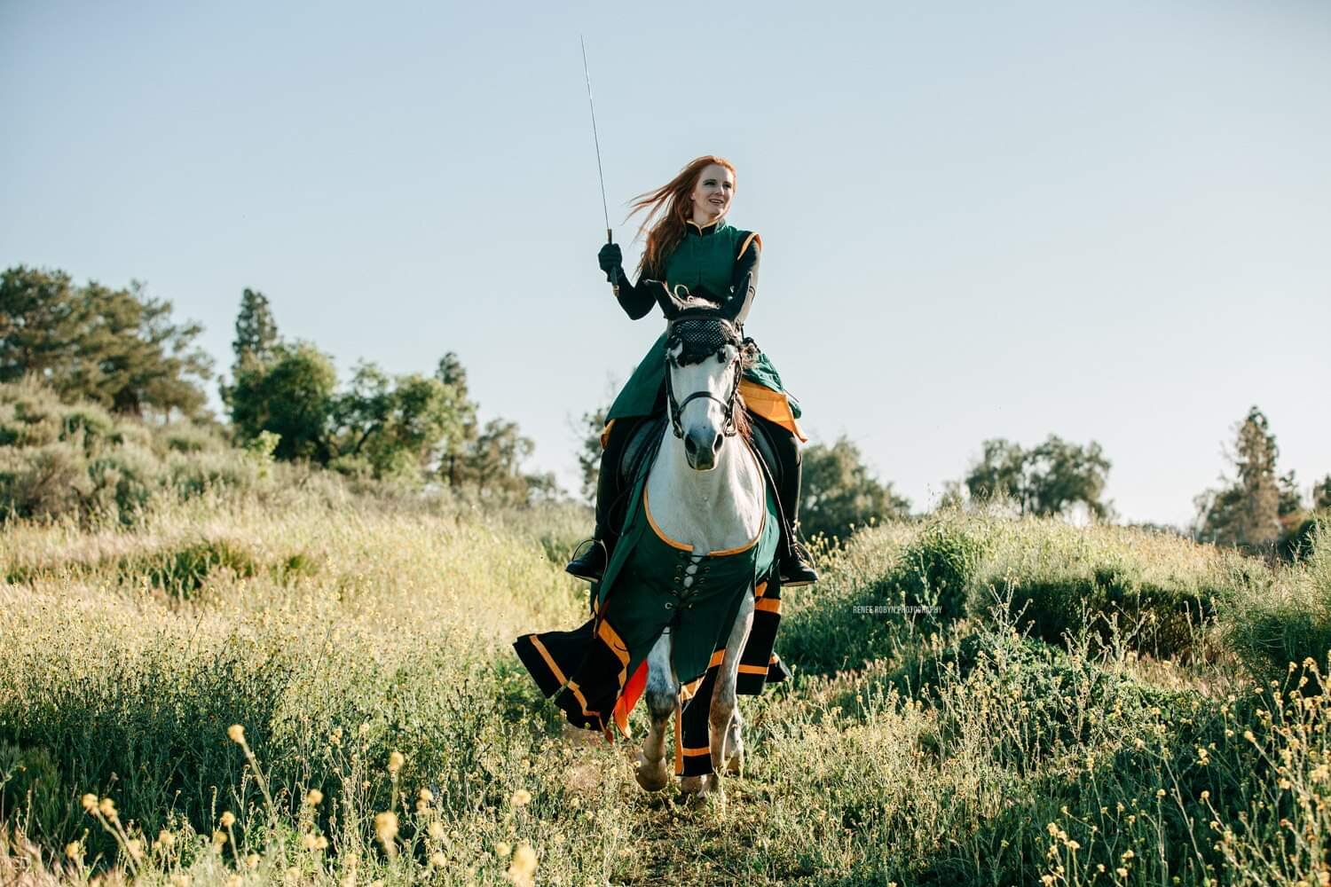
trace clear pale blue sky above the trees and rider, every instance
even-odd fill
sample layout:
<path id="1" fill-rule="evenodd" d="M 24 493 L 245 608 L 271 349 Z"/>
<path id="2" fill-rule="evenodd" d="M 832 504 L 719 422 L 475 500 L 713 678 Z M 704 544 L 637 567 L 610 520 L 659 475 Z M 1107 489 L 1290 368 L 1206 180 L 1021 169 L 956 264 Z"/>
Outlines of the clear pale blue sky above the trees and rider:
<path id="1" fill-rule="evenodd" d="M 457 351 L 572 487 L 570 420 L 660 328 L 596 269 L 579 33 L 616 239 L 732 160 L 748 331 L 917 509 L 1054 432 L 1182 523 L 1251 404 L 1331 472 L 1327 3 L 11 0 L 0 263 L 146 281 L 221 370 L 246 286 L 343 374 Z"/>

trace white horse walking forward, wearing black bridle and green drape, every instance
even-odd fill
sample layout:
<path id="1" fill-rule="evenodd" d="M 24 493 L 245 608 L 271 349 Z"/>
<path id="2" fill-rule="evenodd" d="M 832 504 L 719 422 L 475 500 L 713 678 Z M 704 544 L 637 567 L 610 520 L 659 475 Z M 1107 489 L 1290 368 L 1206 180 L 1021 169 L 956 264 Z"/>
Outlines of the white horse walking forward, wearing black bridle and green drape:
<path id="1" fill-rule="evenodd" d="M 663 301 L 673 320 L 685 307 Z M 717 324 L 725 324 L 717 319 Z M 671 539 L 692 545 L 695 555 L 684 568 L 684 586 L 692 582 L 705 552 L 741 547 L 755 539 L 765 509 L 764 475 L 753 451 L 733 434 L 733 411 L 743 410 L 736 390 L 743 372 L 733 327 L 716 359 L 681 364 L 681 344 L 667 352 L 671 423 L 647 477 L 647 497 L 656 525 Z M 676 394 L 679 399 L 676 399 Z M 729 630 L 720 673 L 716 677 L 708 717 L 711 775 L 684 777 L 681 790 L 724 797 L 721 773 L 743 773 L 743 721 L 736 706 L 735 685 L 740 656 L 753 625 L 753 588 L 744 596 Z M 638 758 L 638 783 L 648 791 L 669 782 L 666 766 L 666 725 L 680 701 L 680 682 L 671 658 L 671 629 L 666 629 L 647 658 L 644 693 L 651 730 Z M 695 699 L 697 705 L 701 699 Z"/>

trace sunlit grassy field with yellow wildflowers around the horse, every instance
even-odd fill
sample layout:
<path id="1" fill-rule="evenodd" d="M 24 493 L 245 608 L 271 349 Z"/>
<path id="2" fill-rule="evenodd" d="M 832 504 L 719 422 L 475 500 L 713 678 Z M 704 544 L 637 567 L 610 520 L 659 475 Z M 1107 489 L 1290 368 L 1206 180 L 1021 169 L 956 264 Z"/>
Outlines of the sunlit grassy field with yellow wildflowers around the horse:
<path id="1" fill-rule="evenodd" d="M 697 805 L 508 646 L 583 618 L 586 523 L 284 481 L 5 524 L 0 882 L 1328 883 L 1331 545 L 870 528 Z"/>

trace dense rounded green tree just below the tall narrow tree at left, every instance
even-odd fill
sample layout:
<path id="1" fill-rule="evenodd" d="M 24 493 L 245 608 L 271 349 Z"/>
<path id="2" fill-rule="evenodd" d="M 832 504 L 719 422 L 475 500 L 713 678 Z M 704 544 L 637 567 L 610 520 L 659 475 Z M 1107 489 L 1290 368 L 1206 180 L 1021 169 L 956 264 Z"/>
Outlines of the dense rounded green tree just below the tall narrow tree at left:
<path id="1" fill-rule="evenodd" d="M 268 431 L 280 436 L 273 455 L 326 464 L 337 372 L 333 360 L 309 343 L 278 344 L 268 363 L 242 367 L 230 388 L 232 424 L 242 442 Z"/>

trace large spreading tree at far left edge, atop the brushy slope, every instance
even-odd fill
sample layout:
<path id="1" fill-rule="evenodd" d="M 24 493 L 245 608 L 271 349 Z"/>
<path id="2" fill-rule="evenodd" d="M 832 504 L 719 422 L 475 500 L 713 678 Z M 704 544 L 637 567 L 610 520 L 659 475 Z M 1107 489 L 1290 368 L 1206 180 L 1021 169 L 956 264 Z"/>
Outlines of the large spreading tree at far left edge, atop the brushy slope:
<path id="1" fill-rule="evenodd" d="M 202 415 L 212 359 L 194 344 L 201 332 L 138 282 L 75 287 L 63 271 L 23 266 L 0 278 L 0 379 L 32 372 L 118 414 Z"/>

